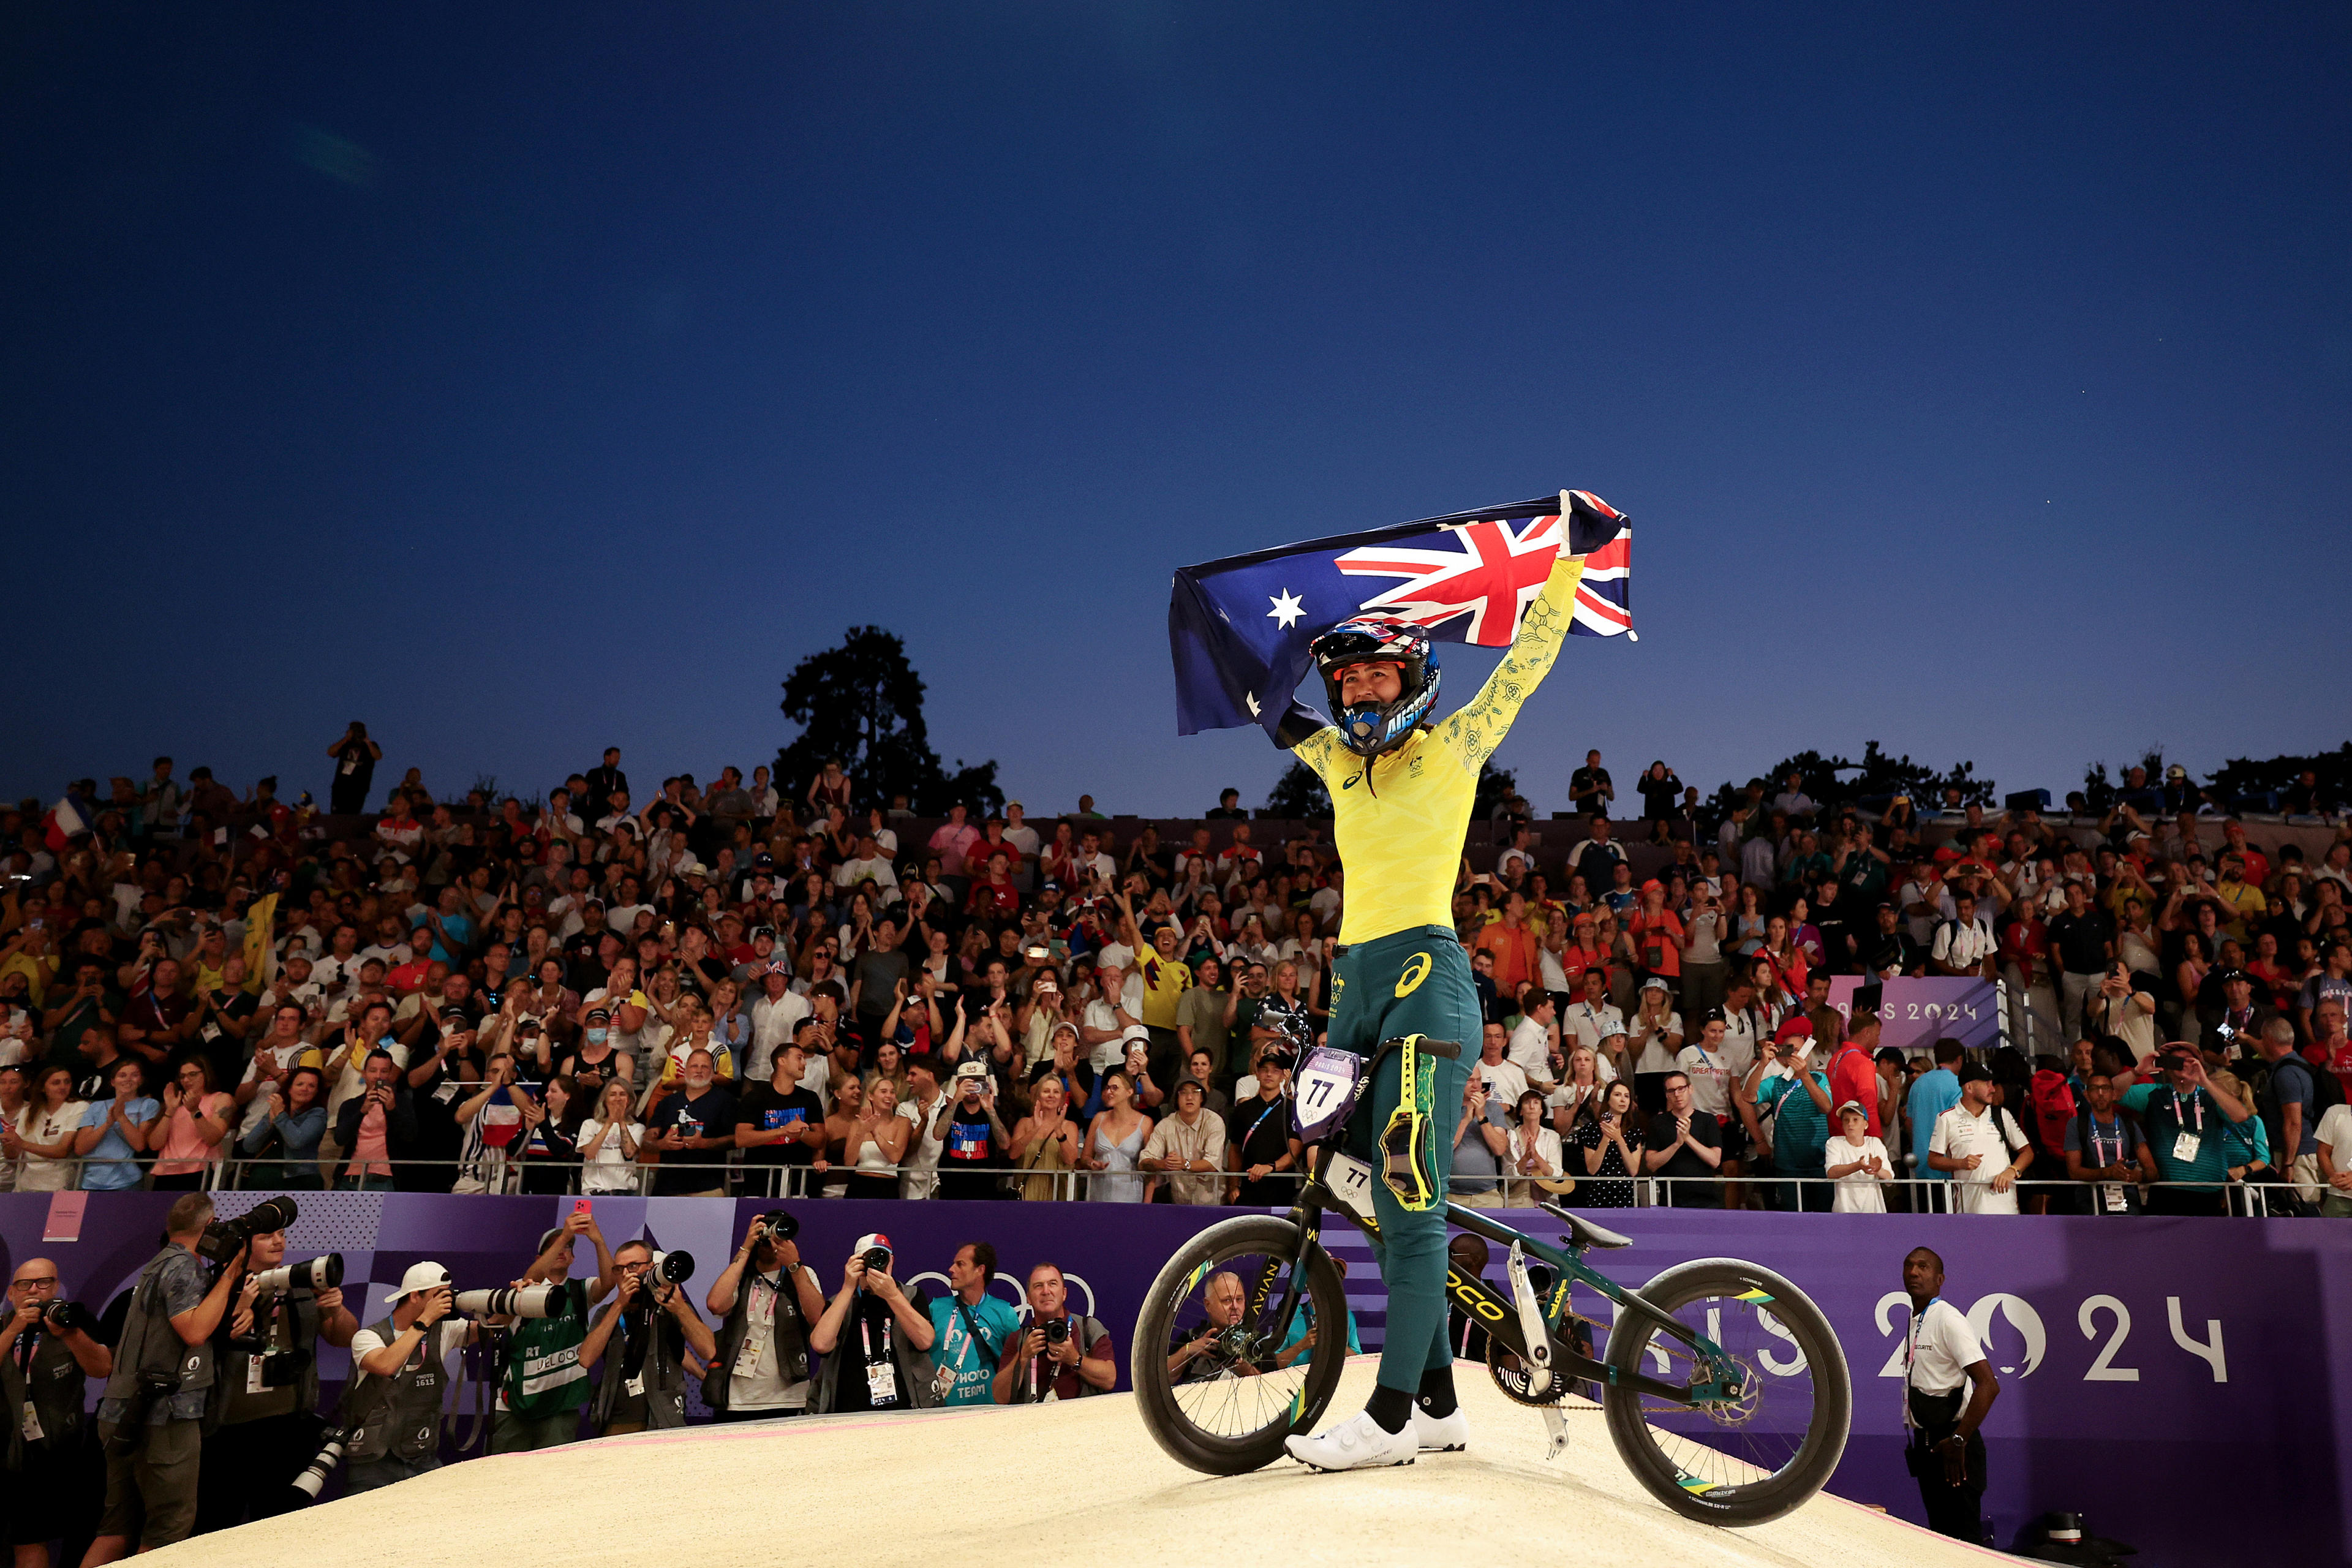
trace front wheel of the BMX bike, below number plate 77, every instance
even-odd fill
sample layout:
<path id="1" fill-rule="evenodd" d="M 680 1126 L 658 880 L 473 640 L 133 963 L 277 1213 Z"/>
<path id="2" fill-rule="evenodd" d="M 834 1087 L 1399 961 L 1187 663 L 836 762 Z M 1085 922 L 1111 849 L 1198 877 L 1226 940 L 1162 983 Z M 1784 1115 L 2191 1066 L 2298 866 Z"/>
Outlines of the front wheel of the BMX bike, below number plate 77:
<path id="1" fill-rule="evenodd" d="M 1218 1326 L 1214 1314 L 1230 1312 L 1225 1274 L 1240 1279 L 1242 1305 L 1237 1324 Z M 1294 1281 L 1291 1314 L 1277 1321 Z M 1171 1373 L 1176 1347 L 1192 1342 L 1204 1349 Z M 1331 1403 L 1348 1361 L 1348 1295 L 1329 1253 L 1291 1220 L 1225 1220 L 1160 1269 L 1131 1354 L 1136 1406 L 1167 1455 L 1237 1476 L 1282 1458 L 1282 1439 L 1312 1432 Z"/>

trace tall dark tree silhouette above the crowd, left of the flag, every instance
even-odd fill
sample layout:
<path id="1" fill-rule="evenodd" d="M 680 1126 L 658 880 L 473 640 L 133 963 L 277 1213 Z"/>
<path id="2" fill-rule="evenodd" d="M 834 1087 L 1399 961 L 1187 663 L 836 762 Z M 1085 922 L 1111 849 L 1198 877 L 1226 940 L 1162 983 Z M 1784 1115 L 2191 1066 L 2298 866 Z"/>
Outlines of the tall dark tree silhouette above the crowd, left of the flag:
<path id="1" fill-rule="evenodd" d="M 858 804 L 889 806 L 898 795 L 922 816 L 967 804 L 976 816 L 1004 809 L 997 764 L 941 766 L 922 724 L 922 677 L 906 644 L 880 625 L 851 625 L 837 649 L 809 654 L 783 679 L 783 717 L 800 738 L 776 752 L 776 788 L 802 799 L 828 759 L 856 780 Z"/>

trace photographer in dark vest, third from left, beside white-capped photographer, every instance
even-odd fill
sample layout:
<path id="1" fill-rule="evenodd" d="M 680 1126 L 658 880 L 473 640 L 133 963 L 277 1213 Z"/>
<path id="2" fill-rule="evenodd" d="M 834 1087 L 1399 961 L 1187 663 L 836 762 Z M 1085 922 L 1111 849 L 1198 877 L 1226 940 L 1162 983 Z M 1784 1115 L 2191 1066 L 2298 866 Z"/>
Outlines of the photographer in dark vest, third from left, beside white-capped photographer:
<path id="1" fill-rule="evenodd" d="M 212 1410 L 195 1530 L 226 1530 L 294 1507 L 294 1476 L 318 1453 L 318 1345 L 348 1347 L 360 1319 L 339 1286 L 261 1288 L 287 1258 L 285 1227 L 256 1232 L 238 1269 L 228 1321 L 214 1335 Z"/>

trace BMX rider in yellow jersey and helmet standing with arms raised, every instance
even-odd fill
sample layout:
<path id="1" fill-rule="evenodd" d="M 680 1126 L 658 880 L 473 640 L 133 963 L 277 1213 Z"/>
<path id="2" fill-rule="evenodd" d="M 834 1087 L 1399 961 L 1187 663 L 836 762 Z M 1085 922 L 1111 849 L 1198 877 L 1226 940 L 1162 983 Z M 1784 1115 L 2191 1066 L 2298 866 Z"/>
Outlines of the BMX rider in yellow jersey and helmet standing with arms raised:
<path id="1" fill-rule="evenodd" d="M 1371 1084 L 1371 1126 L 1352 1140 L 1371 1152 L 1378 1128 L 1383 1180 L 1371 1190 L 1381 1225 L 1381 1279 L 1388 1281 L 1388 1345 L 1381 1382 L 1362 1415 L 1322 1436 L 1291 1436 L 1291 1458 L 1315 1469 L 1411 1465 L 1423 1450 L 1468 1446 L 1454 1403 L 1446 1345 L 1446 1131 L 1470 1072 L 1463 1041 L 1479 1039 L 1470 957 L 1454 936 L 1454 872 L 1479 766 L 1503 743 L 1519 705 L 1552 668 L 1569 632 L 1583 557 L 1562 555 L 1526 607 L 1519 635 L 1486 686 L 1437 722 L 1437 661 L 1430 635 L 1402 621 L 1343 621 L 1310 646 L 1334 724 L 1291 703 L 1279 724 L 1287 745 L 1324 780 L 1334 837 L 1348 867 L 1341 940 L 1331 950 L 1329 1044 L 1381 1056 Z M 1451 1041 L 1454 1056 L 1423 1048 Z M 1418 1399 L 1416 1399 L 1418 1396 Z"/>

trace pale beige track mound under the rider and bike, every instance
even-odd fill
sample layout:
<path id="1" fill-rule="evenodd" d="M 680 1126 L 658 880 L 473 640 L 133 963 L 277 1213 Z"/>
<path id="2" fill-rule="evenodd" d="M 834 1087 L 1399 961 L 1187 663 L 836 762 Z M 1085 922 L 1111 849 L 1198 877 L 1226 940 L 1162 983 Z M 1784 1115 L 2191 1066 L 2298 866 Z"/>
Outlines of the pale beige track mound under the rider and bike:
<path id="1" fill-rule="evenodd" d="M 1334 1418 L 1371 1392 L 1348 1366 Z M 1628 1474 L 1595 1406 L 1543 1460 L 1543 1420 L 1463 1366 L 1468 1453 L 1319 1476 L 1291 1460 L 1195 1474 L 1131 1394 L 1044 1408 L 847 1415 L 647 1432 L 466 1460 L 419 1481 L 165 1552 L 172 1568 L 574 1568 L 644 1561 L 896 1566 L 997 1559 L 1101 1568 L 1557 1563 L 1611 1568 L 1945 1568 L 2018 1561 L 1820 1495 L 1755 1530 L 1670 1514 Z"/>

